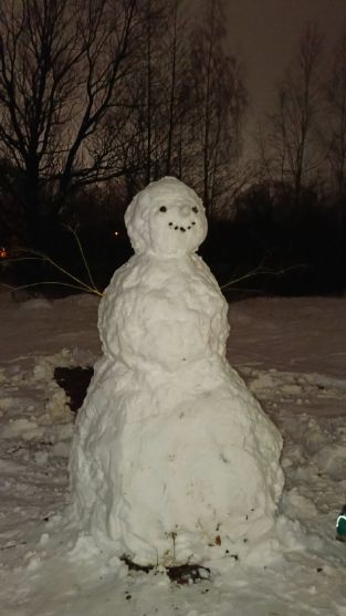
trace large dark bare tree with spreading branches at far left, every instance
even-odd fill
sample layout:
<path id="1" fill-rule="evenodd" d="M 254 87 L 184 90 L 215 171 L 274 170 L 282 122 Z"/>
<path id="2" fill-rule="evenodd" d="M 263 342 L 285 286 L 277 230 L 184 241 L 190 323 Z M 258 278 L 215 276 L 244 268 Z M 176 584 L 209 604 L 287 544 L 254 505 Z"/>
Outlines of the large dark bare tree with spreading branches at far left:
<path id="1" fill-rule="evenodd" d="M 72 188 L 123 173 L 113 149 L 96 146 L 135 27 L 136 0 L 1 2 L 0 152 L 21 173 L 17 196 L 33 234 L 49 192 L 59 213 Z"/>

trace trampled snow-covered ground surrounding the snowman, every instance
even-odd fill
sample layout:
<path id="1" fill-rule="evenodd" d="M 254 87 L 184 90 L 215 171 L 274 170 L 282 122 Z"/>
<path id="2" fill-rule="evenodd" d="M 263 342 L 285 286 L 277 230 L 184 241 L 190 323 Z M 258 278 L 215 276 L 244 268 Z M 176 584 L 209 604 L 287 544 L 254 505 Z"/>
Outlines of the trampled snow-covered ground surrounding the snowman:
<path id="1" fill-rule="evenodd" d="M 97 299 L 0 295 L 1 616 L 346 616 L 346 299 L 230 305 L 228 357 L 284 436 L 283 554 L 210 582 L 128 574 L 64 525 L 73 421 L 54 366 L 99 353 Z"/>

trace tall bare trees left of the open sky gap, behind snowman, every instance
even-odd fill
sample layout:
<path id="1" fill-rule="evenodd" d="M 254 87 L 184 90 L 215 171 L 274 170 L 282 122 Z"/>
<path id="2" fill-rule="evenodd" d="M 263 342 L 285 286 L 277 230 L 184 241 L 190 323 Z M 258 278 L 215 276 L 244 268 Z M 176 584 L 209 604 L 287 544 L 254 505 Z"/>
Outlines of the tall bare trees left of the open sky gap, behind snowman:
<path id="1" fill-rule="evenodd" d="M 247 94 L 222 0 L 2 0 L 1 223 L 35 242 L 90 187 L 228 190 Z"/>

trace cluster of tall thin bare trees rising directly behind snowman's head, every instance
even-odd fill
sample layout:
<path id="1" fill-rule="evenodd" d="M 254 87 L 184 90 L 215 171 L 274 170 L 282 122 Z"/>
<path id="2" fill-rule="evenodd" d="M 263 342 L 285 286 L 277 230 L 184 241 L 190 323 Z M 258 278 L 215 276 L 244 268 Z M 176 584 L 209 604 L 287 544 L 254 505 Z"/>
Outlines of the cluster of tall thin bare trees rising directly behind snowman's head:
<path id="1" fill-rule="evenodd" d="M 240 65 L 223 49 L 223 0 L 208 7 L 192 27 L 180 0 L 139 0 L 139 58 L 127 84 L 130 115 L 123 138 L 133 160 L 129 195 L 171 174 L 205 192 L 211 210 L 234 189 L 230 171 L 247 97 Z M 116 127 L 108 123 L 108 142 Z"/>

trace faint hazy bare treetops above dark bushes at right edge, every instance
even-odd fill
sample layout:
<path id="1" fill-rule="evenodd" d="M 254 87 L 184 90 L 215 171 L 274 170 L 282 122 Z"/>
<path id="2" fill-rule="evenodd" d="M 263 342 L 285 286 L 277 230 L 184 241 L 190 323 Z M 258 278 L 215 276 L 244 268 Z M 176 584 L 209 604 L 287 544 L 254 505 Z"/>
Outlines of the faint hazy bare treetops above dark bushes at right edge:
<path id="1" fill-rule="evenodd" d="M 292 191 L 344 198 L 346 188 L 346 29 L 332 53 L 308 24 L 275 87 L 275 111 L 259 133 L 260 178 Z"/>

